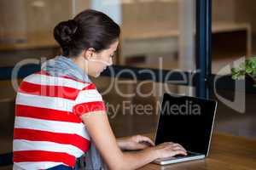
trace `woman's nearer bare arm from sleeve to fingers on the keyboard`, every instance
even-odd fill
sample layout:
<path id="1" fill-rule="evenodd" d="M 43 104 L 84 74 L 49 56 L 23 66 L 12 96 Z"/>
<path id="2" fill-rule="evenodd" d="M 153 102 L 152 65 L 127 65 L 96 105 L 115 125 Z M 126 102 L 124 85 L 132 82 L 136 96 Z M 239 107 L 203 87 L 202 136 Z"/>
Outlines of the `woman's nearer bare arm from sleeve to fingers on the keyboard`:
<path id="1" fill-rule="evenodd" d="M 149 147 L 136 153 L 123 153 L 118 147 L 105 111 L 86 113 L 81 118 L 110 169 L 136 169 L 157 158 L 186 154 L 183 148 L 172 143 Z"/>

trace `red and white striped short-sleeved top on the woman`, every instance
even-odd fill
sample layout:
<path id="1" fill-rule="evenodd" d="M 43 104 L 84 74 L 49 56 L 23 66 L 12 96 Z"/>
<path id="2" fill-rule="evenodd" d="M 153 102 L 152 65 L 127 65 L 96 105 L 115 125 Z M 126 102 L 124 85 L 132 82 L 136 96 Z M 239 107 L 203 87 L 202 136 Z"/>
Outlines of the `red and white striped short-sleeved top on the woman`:
<path id="1" fill-rule="evenodd" d="M 15 103 L 14 169 L 73 167 L 89 149 L 79 116 L 106 111 L 93 83 L 40 71 L 21 83 Z"/>

